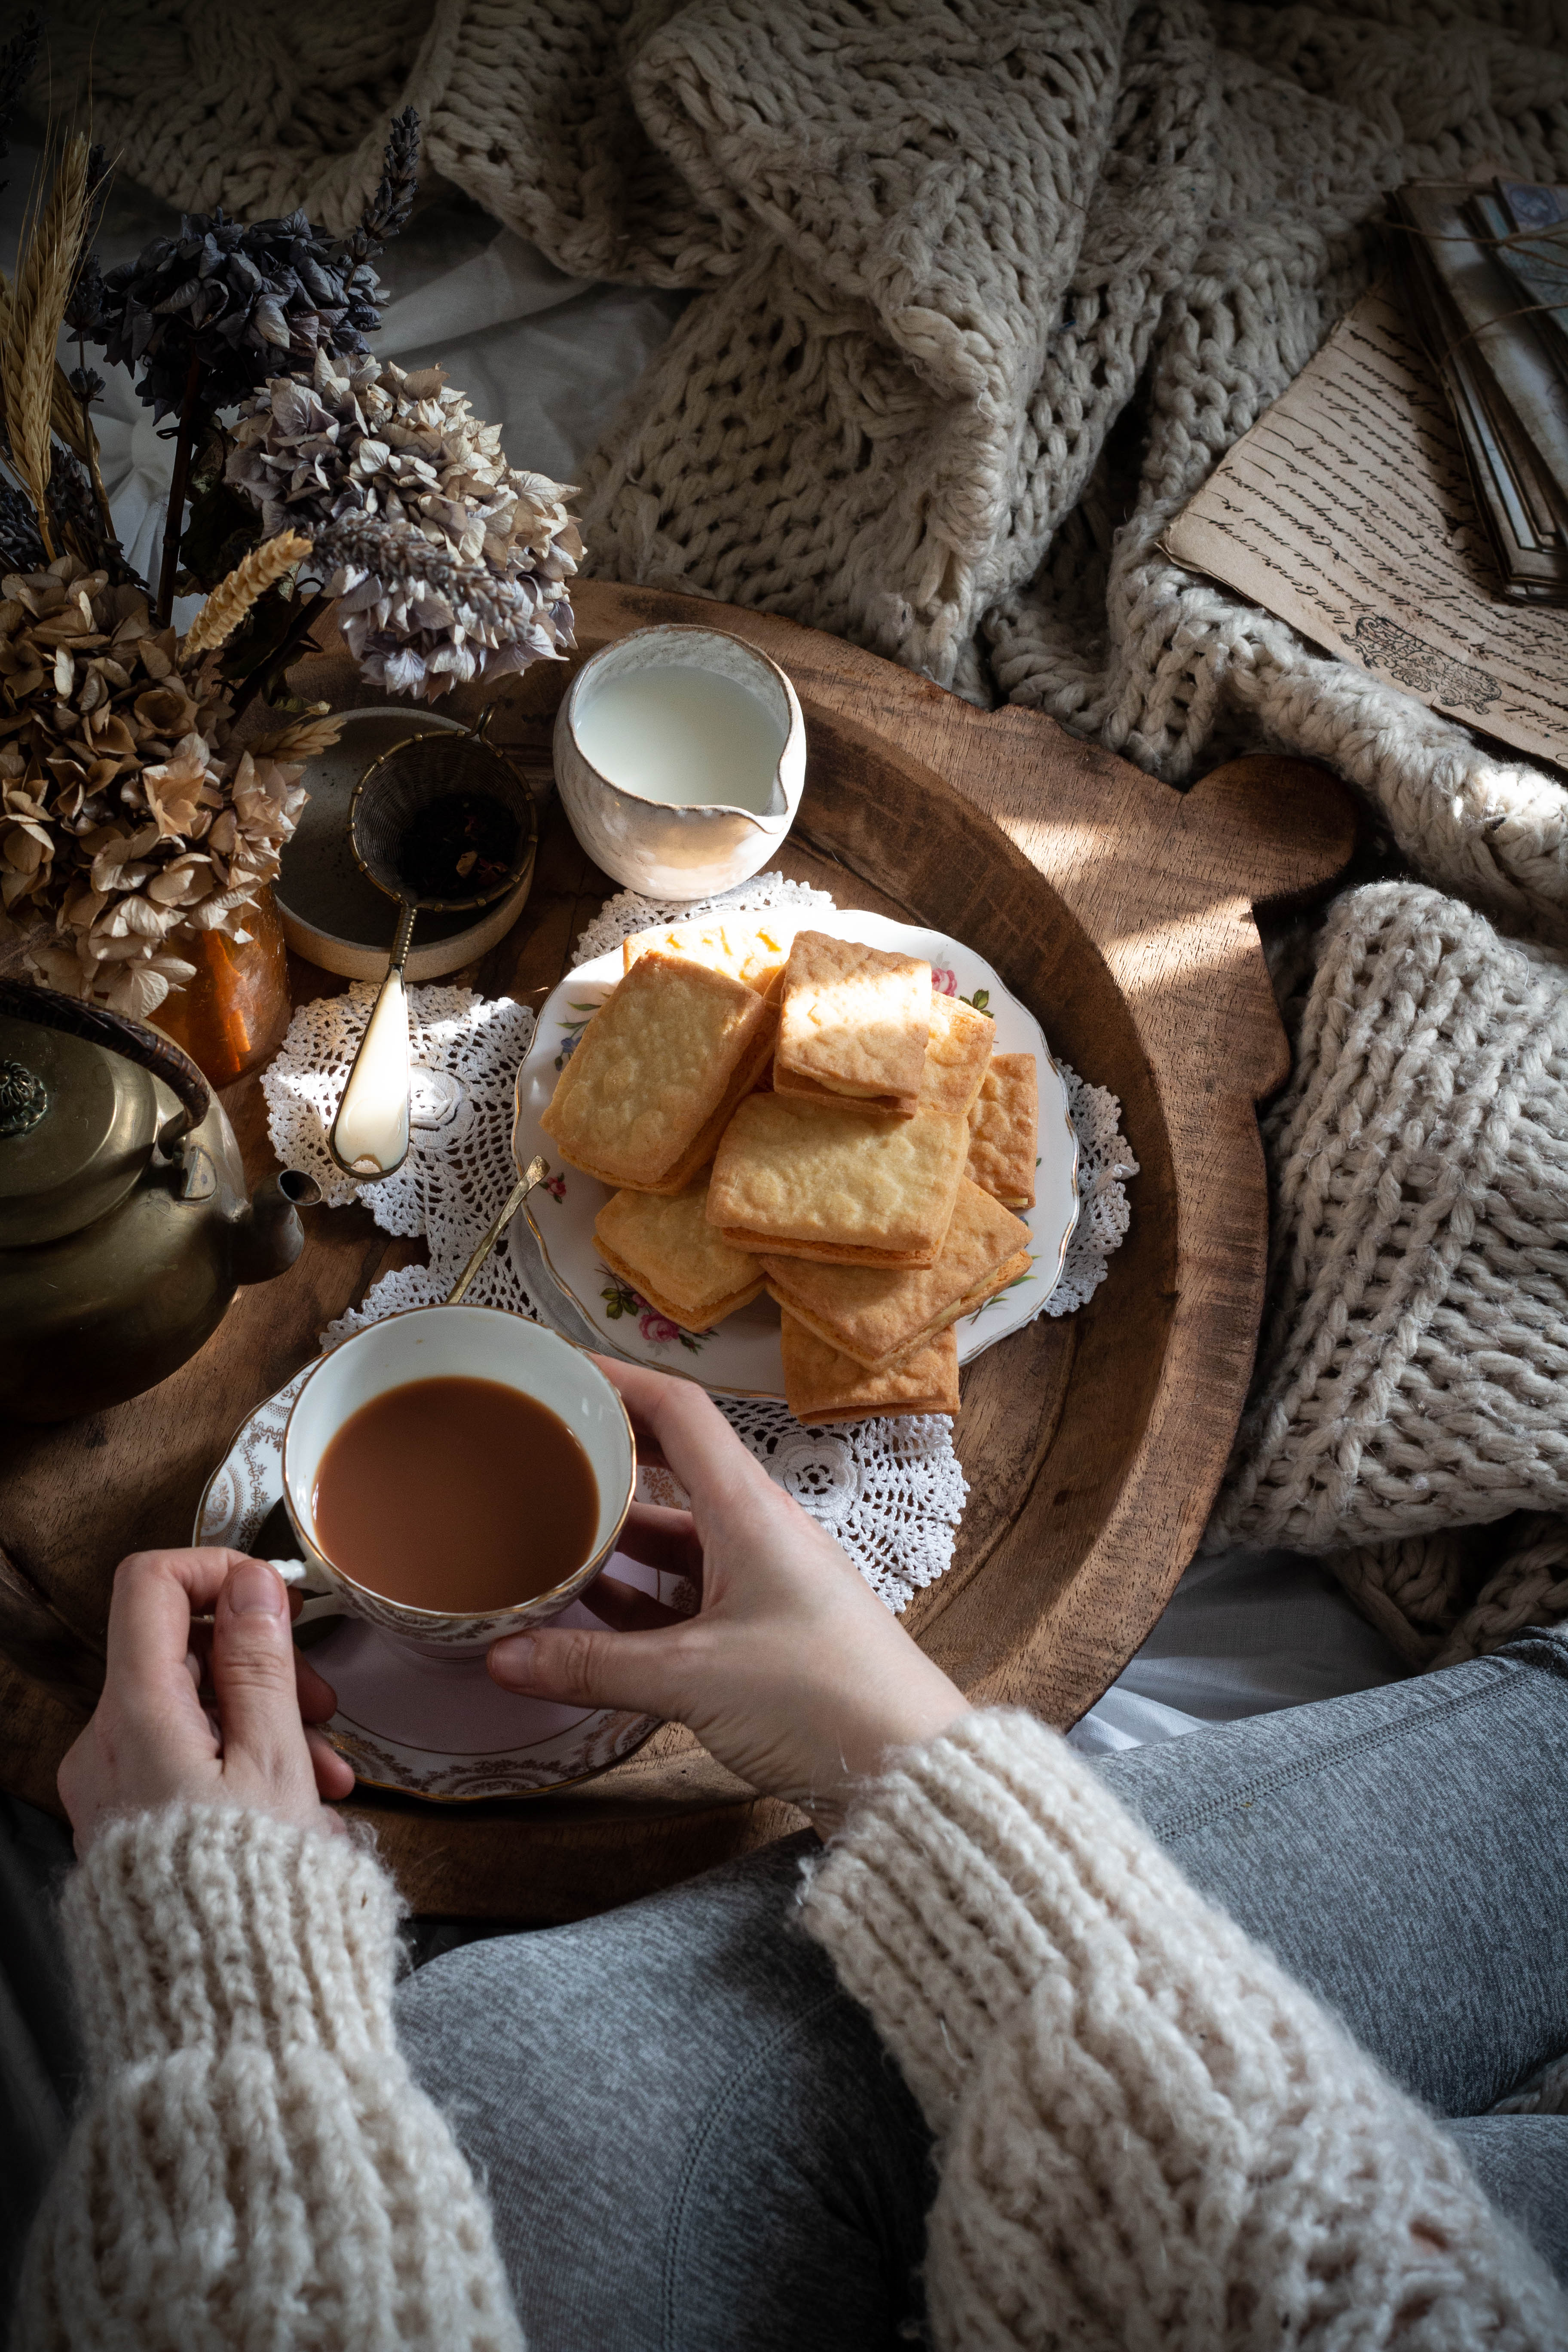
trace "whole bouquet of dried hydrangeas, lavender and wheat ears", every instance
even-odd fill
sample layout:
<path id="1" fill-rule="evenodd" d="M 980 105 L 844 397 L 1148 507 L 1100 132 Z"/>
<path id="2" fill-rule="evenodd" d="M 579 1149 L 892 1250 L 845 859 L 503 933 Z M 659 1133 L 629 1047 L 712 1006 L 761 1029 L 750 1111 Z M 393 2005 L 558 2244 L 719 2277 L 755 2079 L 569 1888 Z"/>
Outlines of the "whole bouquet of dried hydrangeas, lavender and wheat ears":
<path id="1" fill-rule="evenodd" d="M 0 49 L 0 155 L 28 71 L 26 40 Z M 146 1016 L 195 971 L 181 936 L 247 938 L 336 720 L 282 710 L 244 739 L 237 720 L 324 600 L 381 691 L 435 699 L 574 642 L 569 492 L 508 466 L 440 367 L 404 374 L 364 346 L 369 261 L 409 214 L 416 160 L 409 111 L 350 238 L 303 214 L 188 216 L 103 278 L 103 162 L 68 139 L 14 289 L 0 275 L 0 922 L 52 920 L 31 955 L 56 988 Z M 103 383 L 85 355 L 61 369 L 61 325 L 179 419 L 158 597 L 115 541 Z M 176 586 L 209 590 L 183 640 Z"/>

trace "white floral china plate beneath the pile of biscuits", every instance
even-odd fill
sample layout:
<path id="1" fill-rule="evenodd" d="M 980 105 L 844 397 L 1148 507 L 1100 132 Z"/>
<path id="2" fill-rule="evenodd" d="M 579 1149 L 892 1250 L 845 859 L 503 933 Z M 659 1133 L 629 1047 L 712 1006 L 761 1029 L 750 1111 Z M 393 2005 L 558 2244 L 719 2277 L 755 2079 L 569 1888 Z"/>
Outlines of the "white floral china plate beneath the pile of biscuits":
<path id="1" fill-rule="evenodd" d="M 1032 1054 L 1039 1070 L 1039 1160 L 1034 1171 L 1034 1207 L 1025 1214 L 1034 1263 L 1009 1289 L 987 1298 L 959 1324 L 959 1364 L 1032 1322 L 1046 1305 L 1067 1256 L 1067 1242 L 1079 1216 L 1079 1141 L 1067 1110 L 1067 1087 L 1051 1061 L 1044 1030 L 1027 1007 L 1011 995 L 999 976 L 973 950 L 957 946 L 945 931 L 922 931 L 889 915 L 813 913 L 818 931 L 858 938 L 867 948 L 896 948 L 931 964 L 933 985 L 990 1014 L 997 1023 L 997 1054 Z M 783 1399 L 783 1355 L 778 1348 L 778 1308 L 755 1298 L 726 1315 L 712 1331 L 682 1331 L 658 1315 L 646 1298 L 628 1289 L 602 1263 L 592 1223 L 609 1200 L 609 1188 L 576 1169 L 559 1167 L 559 1152 L 538 1124 L 555 1080 L 588 1028 L 588 1021 L 621 978 L 621 948 L 597 955 L 562 981 L 545 1000 L 534 1042 L 517 1070 L 517 1117 L 512 1152 L 527 1167 L 534 1152 L 552 1162 L 555 1174 L 527 1202 L 527 1218 L 538 1251 L 557 1287 L 571 1298 L 590 1329 L 614 1355 L 658 1371 L 684 1371 L 717 1397 Z"/>

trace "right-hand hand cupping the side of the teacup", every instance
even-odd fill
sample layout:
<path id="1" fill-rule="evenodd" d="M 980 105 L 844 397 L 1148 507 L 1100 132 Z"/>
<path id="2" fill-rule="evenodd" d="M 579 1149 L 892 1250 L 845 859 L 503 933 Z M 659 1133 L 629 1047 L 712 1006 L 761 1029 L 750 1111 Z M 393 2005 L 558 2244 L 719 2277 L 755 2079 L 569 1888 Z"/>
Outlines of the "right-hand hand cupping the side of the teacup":
<path id="1" fill-rule="evenodd" d="M 889 1748 L 945 1731 L 969 1700 L 701 1388 L 595 1362 L 625 1397 L 639 1458 L 665 1463 L 691 1496 L 689 1512 L 635 1503 L 621 1550 L 701 1581 L 703 1606 L 675 1618 L 599 1578 L 585 1595 L 595 1613 L 661 1630 L 545 1625 L 496 1642 L 491 1675 L 534 1698 L 689 1724 L 752 1788 L 835 1828 L 853 1780 Z"/>

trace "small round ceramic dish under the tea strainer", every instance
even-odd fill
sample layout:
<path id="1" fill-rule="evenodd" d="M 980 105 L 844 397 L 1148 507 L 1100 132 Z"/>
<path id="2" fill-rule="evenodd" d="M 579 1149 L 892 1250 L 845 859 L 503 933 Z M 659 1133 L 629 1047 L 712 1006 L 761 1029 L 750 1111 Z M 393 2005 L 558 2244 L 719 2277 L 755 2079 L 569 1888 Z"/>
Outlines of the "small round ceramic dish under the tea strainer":
<path id="1" fill-rule="evenodd" d="M 310 800 L 282 851 L 282 868 L 273 884 L 282 934 L 296 955 L 306 955 L 322 971 L 336 971 L 346 981 L 378 981 L 386 974 L 395 908 L 355 866 L 355 854 L 348 847 L 348 802 L 371 760 L 378 760 L 393 743 L 407 743 L 414 734 L 465 731 L 458 720 L 440 717 L 435 710 L 388 703 L 376 710 L 355 710 L 339 741 L 310 760 L 306 771 Z M 458 971 L 477 955 L 487 955 L 517 922 L 531 887 L 534 858 L 529 856 L 505 898 L 480 908 L 477 915 L 461 910 L 421 915 L 414 924 L 404 978 L 409 983 L 440 981 L 444 971 Z"/>

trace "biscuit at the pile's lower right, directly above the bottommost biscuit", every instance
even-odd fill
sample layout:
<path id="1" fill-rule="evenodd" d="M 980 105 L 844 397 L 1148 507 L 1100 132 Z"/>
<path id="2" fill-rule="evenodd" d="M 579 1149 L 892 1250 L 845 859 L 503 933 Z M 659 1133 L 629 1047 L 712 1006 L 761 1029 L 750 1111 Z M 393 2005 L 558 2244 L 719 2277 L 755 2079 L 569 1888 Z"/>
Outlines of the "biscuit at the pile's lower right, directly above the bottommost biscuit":
<path id="1" fill-rule="evenodd" d="M 891 1272 L 762 1258 L 769 1298 L 830 1348 L 879 1371 L 1030 1270 L 1030 1228 L 980 1185 L 959 1183 L 936 1265 Z"/>

